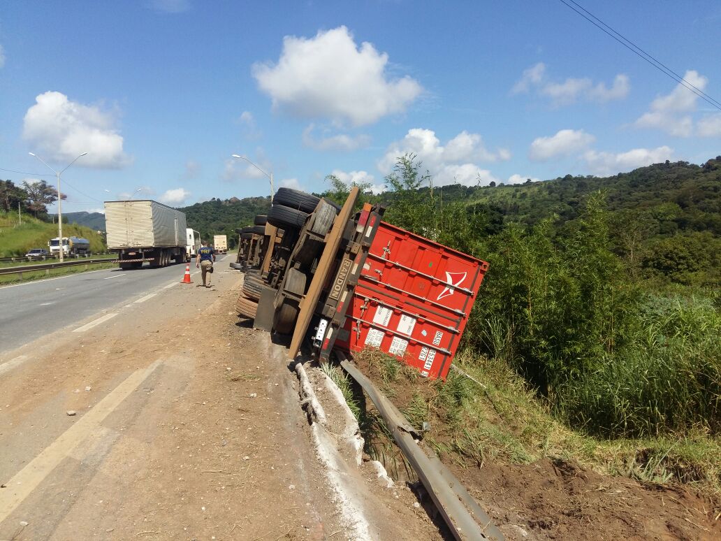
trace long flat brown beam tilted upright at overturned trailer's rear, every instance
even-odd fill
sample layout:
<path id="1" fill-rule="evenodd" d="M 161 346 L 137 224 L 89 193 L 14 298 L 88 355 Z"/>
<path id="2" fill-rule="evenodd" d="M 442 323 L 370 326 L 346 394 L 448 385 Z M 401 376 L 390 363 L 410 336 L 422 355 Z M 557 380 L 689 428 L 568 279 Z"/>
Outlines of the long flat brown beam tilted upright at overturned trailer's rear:
<path id="1" fill-rule="evenodd" d="M 305 338 L 308 326 L 311 324 L 311 319 L 318 304 L 318 299 L 320 299 L 323 284 L 332 268 L 335 254 L 340 246 L 345 226 L 353 214 L 353 207 L 355 206 L 355 201 L 358 199 L 358 193 L 358 186 L 353 186 L 350 190 L 350 195 L 348 195 L 348 199 L 345 200 L 345 205 L 340 209 L 338 216 L 333 222 L 333 228 L 329 234 L 327 234 L 327 237 L 325 237 L 325 247 L 323 248 L 323 253 L 320 256 L 316 271 L 313 274 L 313 280 L 311 281 L 306 296 L 301 300 L 299 306 L 300 312 L 298 312 L 298 320 L 296 320 L 296 328 L 293 330 L 293 338 L 291 338 L 291 348 L 289 351 L 291 359 L 295 358 L 298 354 L 301 348 L 301 342 Z"/>

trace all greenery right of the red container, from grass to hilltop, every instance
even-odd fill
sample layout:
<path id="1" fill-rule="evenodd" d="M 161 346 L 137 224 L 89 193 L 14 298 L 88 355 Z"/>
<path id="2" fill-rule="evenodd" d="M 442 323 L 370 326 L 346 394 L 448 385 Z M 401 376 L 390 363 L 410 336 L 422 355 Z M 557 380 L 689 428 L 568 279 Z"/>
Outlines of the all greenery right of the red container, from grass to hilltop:
<path id="1" fill-rule="evenodd" d="M 494 188 L 430 180 L 407 155 L 389 193 L 366 198 L 490 263 L 459 360 L 485 388 L 454 374 L 409 397 L 376 363 L 411 418 L 441 419 L 438 449 L 721 495 L 721 157 Z"/>

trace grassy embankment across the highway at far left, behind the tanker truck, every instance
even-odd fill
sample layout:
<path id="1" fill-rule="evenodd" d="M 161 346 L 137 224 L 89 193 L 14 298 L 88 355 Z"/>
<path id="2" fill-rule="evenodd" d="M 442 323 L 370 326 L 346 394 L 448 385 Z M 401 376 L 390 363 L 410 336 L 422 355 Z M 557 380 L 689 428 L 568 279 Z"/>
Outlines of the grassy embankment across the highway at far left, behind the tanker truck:
<path id="1" fill-rule="evenodd" d="M 22 256 L 32 248 L 48 248 L 48 241 L 58 236 L 58 224 L 49 224 L 31 216 L 23 216 L 22 225 L 17 216 L 0 213 L 0 258 Z M 89 227 L 63 224 L 63 237 L 83 237 L 90 241 L 91 252 L 105 251 L 102 237 Z"/>

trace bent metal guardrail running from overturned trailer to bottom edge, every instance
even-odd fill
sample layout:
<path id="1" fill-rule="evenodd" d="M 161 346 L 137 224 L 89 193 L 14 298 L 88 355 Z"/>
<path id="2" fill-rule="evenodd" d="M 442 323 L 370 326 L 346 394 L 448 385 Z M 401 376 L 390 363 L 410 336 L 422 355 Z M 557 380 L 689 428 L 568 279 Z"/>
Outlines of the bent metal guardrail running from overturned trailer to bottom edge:
<path id="1" fill-rule="evenodd" d="M 340 366 L 361 384 L 368 397 L 386 422 L 398 447 L 410 462 L 413 470 L 441 512 L 448 529 L 459 541 L 505 540 L 503 533 L 492 524 L 490 516 L 466 491 L 451 470 L 436 457 L 425 454 L 413 439 L 415 429 L 410 426 L 402 413 L 381 393 L 370 379 L 361 374 L 344 354 L 336 352 Z"/>

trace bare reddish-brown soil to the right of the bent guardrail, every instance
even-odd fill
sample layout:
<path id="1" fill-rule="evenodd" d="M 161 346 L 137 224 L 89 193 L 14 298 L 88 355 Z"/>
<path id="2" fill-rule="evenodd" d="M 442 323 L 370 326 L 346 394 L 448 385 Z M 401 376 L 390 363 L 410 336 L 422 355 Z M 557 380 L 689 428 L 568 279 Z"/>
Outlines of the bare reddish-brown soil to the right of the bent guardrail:
<path id="1" fill-rule="evenodd" d="M 400 409 L 417 392 L 426 398 L 434 393 L 428 380 L 383 382 L 379 364 L 363 357 L 358 364 L 389 390 Z M 442 441 L 443 420 L 433 410 L 430 417 L 432 434 Z M 721 539 L 721 521 L 715 520 L 709 501 L 680 485 L 604 476 L 560 459 L 530 465 L 484 462 L 482 467 L 456 455 L 441 459 L 508 540 Z"/>

